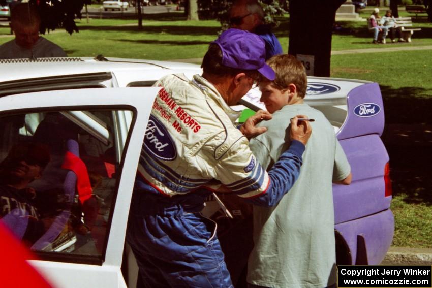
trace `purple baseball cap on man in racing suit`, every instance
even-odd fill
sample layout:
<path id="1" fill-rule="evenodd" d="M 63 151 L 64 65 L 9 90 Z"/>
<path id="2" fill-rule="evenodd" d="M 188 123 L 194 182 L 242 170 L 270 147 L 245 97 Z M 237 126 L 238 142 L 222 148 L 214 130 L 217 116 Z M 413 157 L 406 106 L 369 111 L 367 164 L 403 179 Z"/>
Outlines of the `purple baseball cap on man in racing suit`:
<path id="1" fill-rule="evenodd" d="M 241 70 L 257 70 L 268 80 L 274 80 L 275 73 L 265 63 L 265 43 L 258 35 L 240 30 L 228 29 L 212 43 L 222 50 L 222 64 Z"/>

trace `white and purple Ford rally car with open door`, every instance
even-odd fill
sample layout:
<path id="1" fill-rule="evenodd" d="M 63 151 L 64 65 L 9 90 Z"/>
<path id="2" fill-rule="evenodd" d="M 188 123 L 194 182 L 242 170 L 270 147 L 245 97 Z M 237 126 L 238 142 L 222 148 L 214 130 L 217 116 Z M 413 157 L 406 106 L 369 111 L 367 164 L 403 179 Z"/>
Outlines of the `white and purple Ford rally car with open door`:
<path id="1" fill-rule="evenodd" d="M 62 288 L 135 287 L 137 265 L 125 245 L 126 223 L 143 127 L 160 89 L 152 85 L 167 74 L 191 78 L 201 73 L 198 65 L 187 63 L 98 59 L 0 60 L 8 71 L 0 75 L 0 162 L 17 143 L 38 142 L 50 149 L 51 160 L 42 177 L 30 184 L 41 206 L 46 206 L 51 226 L 30 243 L 37 260 L 29 262 Z M 337 262 L 379 264 L 394 230 L 389 159 L 380 139 L 384 108 L 379 85 L 319 77 L 308 81 L 305 101 L 334 126 L 353 174 L 350 186 L 333 186 Z M 251 90 L 234 109 L 245 115 L 262 107 L 259 93 Z M 76 181 L 85 173 L 65 169 L 65 157 L 84 165 L 92 180 L 97 213 L 91 227 L 86 220 L 90 215 L 76 212 L 80 203 Z M 57 204 L 56 199 L 69 204 Z M 236 233 L 235 225 L 246 213 L 229 199 L 221 199 L 209 198 L 203 213 L 224 228 L 221 241 L 232 240 L 227 236 Z M 22 227 L 14 217 L 1 221 L 18 221 L 12 227 Z M 81 224 L 87 230 L 80 229 Z M 230 267 L 237 282 L 247 254 L 224 252 L 227 260 L 230 255 L 237 260 Z"/>

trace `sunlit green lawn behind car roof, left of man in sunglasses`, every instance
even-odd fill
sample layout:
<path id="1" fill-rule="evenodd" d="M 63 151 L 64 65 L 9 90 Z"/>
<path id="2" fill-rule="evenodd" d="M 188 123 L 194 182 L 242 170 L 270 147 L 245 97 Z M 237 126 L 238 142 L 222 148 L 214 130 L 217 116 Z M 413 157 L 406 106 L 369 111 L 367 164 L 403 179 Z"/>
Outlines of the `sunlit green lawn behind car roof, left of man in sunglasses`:
<path id="1" fill-rule="evenodd" d="M 102 54 L 157 60 L 203 57 L 208 44 L 218 36 L 219 22 L 183 21 L 183 13 L 168 14 L 177 14 L 180 20 L 166 21 L 162 14 L 162 20 L 145 19 L 143 29 L 138 30 L 137 20 L 90 19 L 87 23 L 82 19 L 77 21 L 79 33 L 70 36 L 57 29 L 44 37 L 61 46 L 69 56 Z M 0 29 L 0 35 L 8 33 L 5 28 Z M 0 43 L 10 39 L 13 37 L 0 37 Z"/>

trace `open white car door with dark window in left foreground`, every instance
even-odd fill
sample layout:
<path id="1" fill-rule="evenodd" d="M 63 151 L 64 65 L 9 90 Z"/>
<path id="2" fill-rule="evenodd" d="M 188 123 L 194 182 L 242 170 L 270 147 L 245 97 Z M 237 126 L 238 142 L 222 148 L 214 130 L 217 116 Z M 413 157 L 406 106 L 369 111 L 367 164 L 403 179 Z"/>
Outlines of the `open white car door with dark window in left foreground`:
<path id="1" fill-rule="evenodd" d="M 120 266 L 129 205 L 158 91 L 0 98 L 0 221 L 32 250 L 30 264 L 53 286 L 126 287 Z M 32 169 L 40 173 L 26 187 L 11 188 Z"/>

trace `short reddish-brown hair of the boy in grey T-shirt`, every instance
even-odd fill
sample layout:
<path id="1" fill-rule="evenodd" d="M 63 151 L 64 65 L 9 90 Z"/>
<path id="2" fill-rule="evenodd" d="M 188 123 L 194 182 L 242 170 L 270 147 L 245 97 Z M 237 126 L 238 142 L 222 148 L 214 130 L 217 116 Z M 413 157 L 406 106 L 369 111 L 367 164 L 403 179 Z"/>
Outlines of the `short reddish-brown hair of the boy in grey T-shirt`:
<path id="1" fill-rule="evenodd" d="M 267 64 L 276 73 L 271 83 L 278 89 L 286 89 L 289 84 L 297 87 L 297 94 L 304 98 L 307 88 L 307 75 L 303 64 L 296 57 L 288 54 L 275 55 L 267 60 Z"/>

